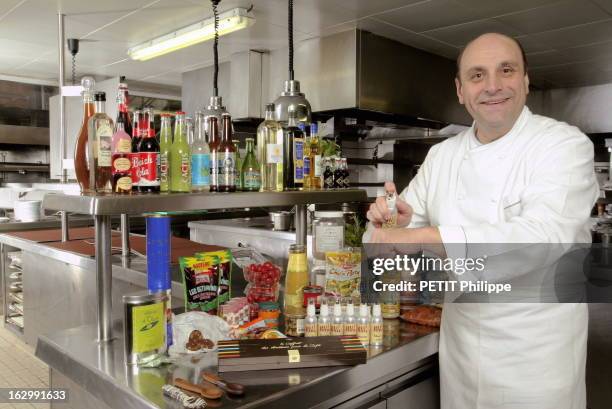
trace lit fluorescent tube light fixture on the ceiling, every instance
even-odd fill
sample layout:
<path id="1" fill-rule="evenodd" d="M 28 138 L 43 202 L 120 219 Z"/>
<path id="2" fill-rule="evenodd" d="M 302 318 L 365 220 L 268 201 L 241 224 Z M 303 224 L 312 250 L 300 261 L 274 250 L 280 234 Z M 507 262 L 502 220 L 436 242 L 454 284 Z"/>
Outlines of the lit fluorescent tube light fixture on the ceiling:
<path id="1" fill-rule="evenodd" d="M 219 15 L 219 35 L 229 34 L 247 28 L 255 23 L 244 8 L 235 8 Z M 213 17 L 199 23 L 183 27 L 180 30 L 154 38 L 128 50 L 133 60 L 146 61 L 190 45 L 198 44 L 215 37 L 215 20 Z"/>

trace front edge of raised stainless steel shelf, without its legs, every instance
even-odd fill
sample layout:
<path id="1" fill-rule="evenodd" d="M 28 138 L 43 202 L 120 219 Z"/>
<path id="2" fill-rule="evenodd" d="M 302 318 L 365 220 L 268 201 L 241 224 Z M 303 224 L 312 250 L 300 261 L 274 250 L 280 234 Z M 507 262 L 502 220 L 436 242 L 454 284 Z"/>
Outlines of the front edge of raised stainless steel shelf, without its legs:
<path id="1" fill-rule="evenodd" d="M 366 191 L 361 189 L 133 195 L 67 195 L 63 193 L 48 193 L 43 199 L 43 207 L 48 210 L 65 210 L 81 214 L 110 216 L 148 212 L 187 212 L 245 207 L 291 206 L 310 203 L 360 202 L 367 199 Z"/>

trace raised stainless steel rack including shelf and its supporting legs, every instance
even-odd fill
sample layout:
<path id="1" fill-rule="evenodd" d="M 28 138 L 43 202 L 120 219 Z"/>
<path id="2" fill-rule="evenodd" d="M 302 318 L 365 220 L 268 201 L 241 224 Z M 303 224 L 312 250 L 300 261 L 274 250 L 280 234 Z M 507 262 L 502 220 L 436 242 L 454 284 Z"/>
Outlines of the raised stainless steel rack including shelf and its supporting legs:
<path id="1" fill-rule="evenodd" d="M 169 193 L 134 195 L 67 195 L 49 193 L 43 208 L 94 216 L 98 340 L 112 340 L 111 216 L 151 212 L 190 212 L 246 207 L 296 206 L 296 242 L 306 245 L 306 206 L 367 200 L 365 190 L 328 189 L 288 192 Z M 62 218 L 62 230 L 67 230 Z M 123 235 L 122 237 L 125 237 Z M 126 248 L 127 243 L 122 243 Z"/>

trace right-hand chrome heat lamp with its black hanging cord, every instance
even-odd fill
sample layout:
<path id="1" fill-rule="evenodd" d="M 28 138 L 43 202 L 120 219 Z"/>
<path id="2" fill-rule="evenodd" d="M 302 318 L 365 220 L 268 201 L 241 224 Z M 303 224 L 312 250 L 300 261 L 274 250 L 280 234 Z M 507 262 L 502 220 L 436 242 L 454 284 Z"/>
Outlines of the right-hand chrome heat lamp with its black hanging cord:
<path id="1" fill-rule="evenodd" d="M 289 111 L 297 112 L 300 122 L 310 123 L 312 111 L 310 102 L 300 92 L 300 82 L 294 79 L 293 73 L 293 0 L 288 0 L 288 26 L 289 26 L 289 80 L 285 81 L 285 90 L 274 101 L 276 120 L 286 123 Z"/>

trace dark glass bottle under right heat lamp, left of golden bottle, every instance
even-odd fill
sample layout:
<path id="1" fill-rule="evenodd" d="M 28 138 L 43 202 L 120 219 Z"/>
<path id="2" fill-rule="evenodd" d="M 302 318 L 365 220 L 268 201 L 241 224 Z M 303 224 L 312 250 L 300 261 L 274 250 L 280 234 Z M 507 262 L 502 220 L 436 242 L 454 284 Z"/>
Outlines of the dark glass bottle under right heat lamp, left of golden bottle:
<path id="1" fill-rule="evenodd" d="M 283 134 L 285 188 L 301 190 L 304 186 L 304 134 L 297 127 L 297 112 L 289 111 Z"/>

